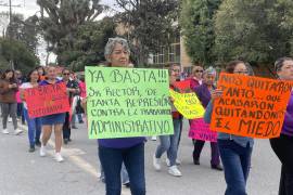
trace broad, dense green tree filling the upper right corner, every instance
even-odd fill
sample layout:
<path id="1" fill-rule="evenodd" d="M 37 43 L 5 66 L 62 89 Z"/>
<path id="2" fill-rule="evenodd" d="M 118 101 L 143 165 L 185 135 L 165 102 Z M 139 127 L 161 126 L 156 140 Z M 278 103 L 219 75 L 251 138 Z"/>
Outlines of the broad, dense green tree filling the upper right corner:
<path id="1" fill-rule="evenodd" d="M 272 64 L 292 54 L 292 0 L 225 0 L 215 16 L 219 61 Z"/>

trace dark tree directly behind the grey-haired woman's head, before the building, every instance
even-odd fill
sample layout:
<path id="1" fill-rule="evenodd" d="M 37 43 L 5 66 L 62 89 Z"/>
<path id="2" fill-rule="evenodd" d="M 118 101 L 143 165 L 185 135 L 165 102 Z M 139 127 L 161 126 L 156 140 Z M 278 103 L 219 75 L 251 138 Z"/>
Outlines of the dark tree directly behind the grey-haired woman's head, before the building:
<path id="1" fill-rule="evenodd" d="M 177 0 L 116 0 L 123 10 L 120 23 L 126 31 L 137 64 L 148 63 L 149 54 L 160 46 L 168 46 L 177 30 L 179 2 Z"/>

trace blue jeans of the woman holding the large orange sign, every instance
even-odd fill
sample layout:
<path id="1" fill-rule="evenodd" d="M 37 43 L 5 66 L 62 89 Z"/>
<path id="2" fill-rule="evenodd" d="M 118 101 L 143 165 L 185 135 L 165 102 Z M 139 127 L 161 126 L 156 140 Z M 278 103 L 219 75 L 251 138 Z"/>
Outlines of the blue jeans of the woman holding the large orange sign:
<path id="1" fill-rule="evenodd" d="M 252 147 L 243 147 L 232 140 L 218 140 L 227 188 L 225 195 L 246 195 Z"/>

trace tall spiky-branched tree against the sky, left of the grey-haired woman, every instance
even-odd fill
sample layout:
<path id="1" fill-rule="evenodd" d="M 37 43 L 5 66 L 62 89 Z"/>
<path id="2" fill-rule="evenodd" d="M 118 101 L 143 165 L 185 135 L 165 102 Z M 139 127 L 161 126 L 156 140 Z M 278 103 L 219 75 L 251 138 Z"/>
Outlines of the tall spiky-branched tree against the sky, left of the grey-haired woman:
<path id="1" fill-rule="evenodd" d="M 50 43 L 48 50 L 58 55 L 62 65 L 68 65 L 63 55 L 74 50 L 78 27 L 93 22 L 106 9 L 100 0 L 37 0 L 37 3 L 42 13 L 43 37 Z"/>

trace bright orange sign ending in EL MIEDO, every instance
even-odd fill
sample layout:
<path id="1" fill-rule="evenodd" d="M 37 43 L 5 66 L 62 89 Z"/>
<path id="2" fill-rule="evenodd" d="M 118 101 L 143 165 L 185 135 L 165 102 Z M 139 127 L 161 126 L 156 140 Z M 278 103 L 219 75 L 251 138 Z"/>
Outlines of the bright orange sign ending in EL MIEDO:
<path id="1" fill-rule="evenodd" d="M 242 136 L 268 139 L 280 135 L 292 82 L 221 74 L 211 129 Z"/>

